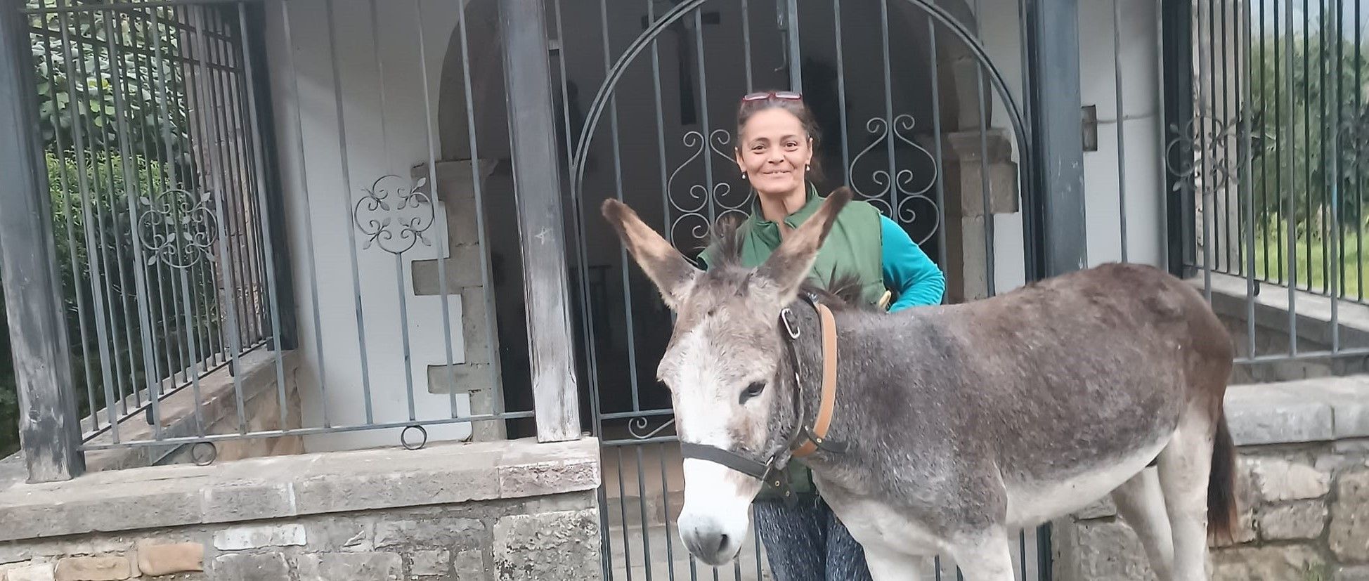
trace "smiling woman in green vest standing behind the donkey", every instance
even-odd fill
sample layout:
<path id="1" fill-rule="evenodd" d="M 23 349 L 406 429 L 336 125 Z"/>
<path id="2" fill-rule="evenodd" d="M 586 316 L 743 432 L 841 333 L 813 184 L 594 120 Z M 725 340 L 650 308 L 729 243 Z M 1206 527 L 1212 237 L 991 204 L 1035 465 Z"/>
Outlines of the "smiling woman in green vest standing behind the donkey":
<path id="1" fill-rule="evenodd" d="M 737 167 L 756 191 L 752 213 L 742 224 L 745 267 L 760 265 L 780 239 L 821 204 L 813 150 L 817 124 L 802 96 L 790 92 L 752 93 L 737 112 Z M 700 258 L 708 265 L 705 250 Z M 890 312 L 941 303 L 946 280 L 936 264 L 897 223 L 864 201 L 852 201 L 838 215 L 817 253 L 813 275 L 854 275 L 861 297 Z M 757 498 L 756 529 L 778 581 L 869 580 L 865 554 L 819 496 L 804 465 L 790 462 L 789 477 L 799 502 L 789 507 L 775 498 Z"/>

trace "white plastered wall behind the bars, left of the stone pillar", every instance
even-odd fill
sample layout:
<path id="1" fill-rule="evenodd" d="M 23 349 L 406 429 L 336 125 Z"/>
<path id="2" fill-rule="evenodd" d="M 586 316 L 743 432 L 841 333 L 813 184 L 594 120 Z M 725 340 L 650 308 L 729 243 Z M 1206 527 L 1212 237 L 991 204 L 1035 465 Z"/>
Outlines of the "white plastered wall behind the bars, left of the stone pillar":
<path id="1" fill-rule="evenodd" d="M 407 370 L 413 381 L 418 418 L 450 417 L 448 395 L 428 394 L 426 369 L 446 362 L 448 336 L 455 362 L 464 360 L 461 301 L 456 294 L 445 297 L 450 321 L 448 335 L 442 325 L 444 298 L 413 295 L 411 276 L 413 260 L 435 258 L 438 249 L 446 247 L 444 212 L 435 209 L 434 226 L 427 231 L 433 246 L 420 243 L 405 252 L 398 261 L 400 272 L 396 272 L 394 254 L 375 245 L 363 249 L 367 237 L 356 230 L 352 212 L 364 195 L 363 189 L 371 187 L 381 176 L 394 174 L 407 179 L 411 167 L 428 161 L 427 127 L 435 131 L 441 60 L 457 22 L 459 4 L 423 3 L 422 18 L 418 18 L 413 3 L 381 3 L 378 18 L 372 21 L 370 3 L 334 1 L 340 79 L 334 78 L 330 60 L 324 3 L 290 0 L 289 4 L 289 46 L 281 5 L 278 1 L 268 4 L 267 64 L 275 131 L 282 146 L 279 156 L 297 288 L 300 350 L 305 354 L 300 381 L 304 425 L 324 425 L 324 406 L 334 427 L 367 422 L 366 376 L 370 377 L 371 422 L 408 421 Z M 376 37 L 385 40 L 381 42 L 379 67 L 374 52 Z M 419 57 L 420 40 L 426 62 Z M 297 96 L 290 79 L 292 56 L 298 79 Z M 427 70 L 431 107 L 424 105 L 420 64 Z M 341 124 L 334 97 L 338 83 L 344 101 Z M 303 134 L 297 127 L 303 127 Z M 345 139 L 340 129 L 345 130 Z M 301 142 L 303 157 L 297 146 Z M 441 198 L 441 191 L 437 197 Z M 349 247 L 356 249 L 356 269 Z M 314 252 L 312 264 L 309 249 Z M 407 325 L 401 306 L 407 309 Z M 359 313 L 364 334 L 357 324 Z M 405 340 L 409 361 L 405 360 Z M 368 368 L 366 375 L 363 364 Z M 470 413 L 465 395 L 459 395 L 457 403 L 457 413 Z M 470 425 L 464 424 L 428 427 L 430 440 L 465 437 L 468 433 Z M 307 448 L 393 446 L 398 436 L 398 429 L 312 436 Z"/>

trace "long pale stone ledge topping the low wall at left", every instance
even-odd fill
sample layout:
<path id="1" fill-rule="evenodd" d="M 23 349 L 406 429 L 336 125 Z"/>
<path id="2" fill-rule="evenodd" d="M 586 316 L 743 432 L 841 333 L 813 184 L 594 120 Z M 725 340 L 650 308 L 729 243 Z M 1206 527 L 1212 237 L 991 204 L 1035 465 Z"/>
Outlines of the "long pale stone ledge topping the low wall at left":
<path id="1" fill-rule="evenodd" d="M 546 496 L 598 485 L 593 437 L 137 468 L 0 491 L 0 541 Z"/>

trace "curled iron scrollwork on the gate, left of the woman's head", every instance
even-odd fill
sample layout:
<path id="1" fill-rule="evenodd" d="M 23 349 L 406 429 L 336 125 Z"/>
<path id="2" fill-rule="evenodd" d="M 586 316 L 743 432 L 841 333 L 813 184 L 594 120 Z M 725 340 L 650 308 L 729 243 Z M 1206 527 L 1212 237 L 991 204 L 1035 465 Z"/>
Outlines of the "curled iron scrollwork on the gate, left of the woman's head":
<path id="1" fill-rule="evenodd" d="M 674 171 L 671 171 L 669 178 L 665 180 L 665 191 L 669 198 L 672 216 L 671 232 L 680 234 L 679 228 L 682 226 L 689 226 L 689 239 L 700 239 L 708 234 L 712 220 L 726 217 L 728 215 L 746 216 L 747 204 L 752 200 L 750 189 L 745 189 L 742 194 L 732 194 L 732 183 L 726 179 L 719 179 L 717 174 L 732 175 L 737 172 L 735 160 L 731 153 L 727 152 L 727 146 L 732 142 L 732 134 L 727 130 L 713 130 L 708 139 L 704 139 L 701 131 L 689 131 L 680 139 L 686 148 L 693 152 L 689 159 L 679 164 Z M 690 183 L 683 187 L 683 191 L 676 194 L 676 178 L 680 178 L 680 172 L 695 161 L 706 164 L 708 160 L 704 156 L 712 152 L 720 159 L 726 160 L 726 164 L 716 167 L 713 180 L 709 183 L 706 178 L 698 183 Z M 706 174 L 705 174 L 706 175 Z M 737 198 L 737 200 L 732 200 Z M 674 239 L 679 239 L 675 237 Z"/>

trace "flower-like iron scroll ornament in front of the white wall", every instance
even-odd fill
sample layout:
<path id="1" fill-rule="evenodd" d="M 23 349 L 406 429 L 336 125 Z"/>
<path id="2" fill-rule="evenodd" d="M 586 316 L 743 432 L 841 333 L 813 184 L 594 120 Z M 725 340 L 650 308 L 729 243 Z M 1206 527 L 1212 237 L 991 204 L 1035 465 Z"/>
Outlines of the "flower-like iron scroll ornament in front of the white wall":
<path id="1" fill-rule="evenodd" d="M 433 200 L 418 191 L 427 178 L 411 183 L 397 175 L 383 175 L 366 189 L 352 212 L 353 221 L 367 235 L 361 250 L 378 246 L 392 254 L 402 254 L 422 242 L 433 246 L 424 234 L 433 227 Z"/>

